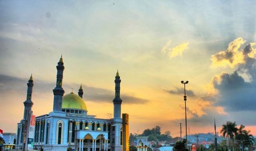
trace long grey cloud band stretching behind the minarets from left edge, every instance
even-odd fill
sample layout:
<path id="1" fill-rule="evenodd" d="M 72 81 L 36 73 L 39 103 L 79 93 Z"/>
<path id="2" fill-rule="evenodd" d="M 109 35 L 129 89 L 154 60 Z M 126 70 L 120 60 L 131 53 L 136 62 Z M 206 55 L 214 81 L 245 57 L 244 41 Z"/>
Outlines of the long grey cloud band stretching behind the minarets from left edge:
<path id="1" fill-rule="evenodd" d="M 17 77 L 12 77 L 9 75 L 3 75 L 0 74 L 0 94 L 10 94 L 10 92 L 18 92 L 19 94 L 24 94 L 26 96 L 26 90 L 28 79 L 22 79 Z M 34 79 L 34 87 L 33 87 L 33 93 L 34 93 L 34 99 L 36 99 L 36 96 L 39 96 L 39 94 L 52 94 L 52 90 L 55 88 L 55 83 L 51 82 L 45 82 L 42 80 L 35 80 Z M 63 84 L 63 89 L 65 90 L 65 94 L 69 94 L 71 92 L 72 88 L 80 88 L 79 84 Z M 77 89 L 77 92 L 78 92 Z M 91 86 L 83 85 L 84 89 L 84 97 L 83 99 L 86 101 L 94 101 L 94 102 L 108 102 L 112 103 L 113 98 L 115 97 L 115 92 L 110 91 L 107 89 L 102 88 L 95 88 Z M 68 91 L 70 90 L 70 91 Z M 74 89 L 74 93 L 76 90 Z M 53 95 L 53 94 L 52 94 Z M 25 97 L 24 97 L 25 98 Z M 144 104 L 149 102 L 149 100 L 145 100 L 143 98 L 134 97 L 132 95 L 128 94 L 122 94 L 121 92 L 121 98 L 123 100 L 124 104 Z"/>

